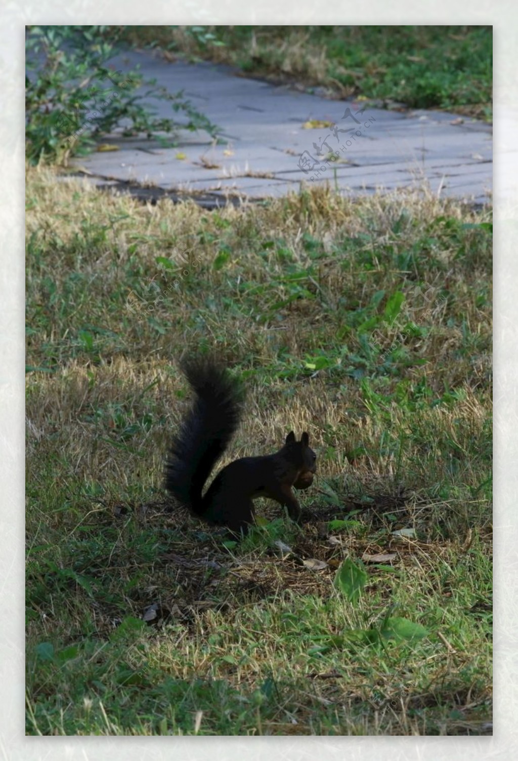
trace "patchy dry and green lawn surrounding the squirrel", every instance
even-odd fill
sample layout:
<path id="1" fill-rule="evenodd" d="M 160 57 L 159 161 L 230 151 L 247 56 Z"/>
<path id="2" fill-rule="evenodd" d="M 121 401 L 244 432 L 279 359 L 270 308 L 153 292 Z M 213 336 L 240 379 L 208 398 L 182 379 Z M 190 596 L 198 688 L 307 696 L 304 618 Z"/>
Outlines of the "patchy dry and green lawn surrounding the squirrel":
<path id="1" fill-rule="evenodd" d="M 27 734 L 490 731 L 491 229 L 430 195 L 204 212 L 27 170 Z M 300 529 L 166 511 L 176 359 L 215 345 L 249 399 L 224 462 L 310 433 Z"/>

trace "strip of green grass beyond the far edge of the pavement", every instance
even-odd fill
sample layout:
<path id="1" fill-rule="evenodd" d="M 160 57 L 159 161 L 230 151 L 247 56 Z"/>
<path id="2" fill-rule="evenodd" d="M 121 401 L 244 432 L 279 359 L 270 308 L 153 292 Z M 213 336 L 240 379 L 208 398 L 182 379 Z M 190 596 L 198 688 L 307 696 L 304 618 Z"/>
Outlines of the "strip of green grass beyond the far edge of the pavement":
<path id="1" fill-rule="evenodd" d="M 492 119 L 492 27 L 112 27 L 170 58 L 230 63 L 246 75 L 387 107 Z"/>

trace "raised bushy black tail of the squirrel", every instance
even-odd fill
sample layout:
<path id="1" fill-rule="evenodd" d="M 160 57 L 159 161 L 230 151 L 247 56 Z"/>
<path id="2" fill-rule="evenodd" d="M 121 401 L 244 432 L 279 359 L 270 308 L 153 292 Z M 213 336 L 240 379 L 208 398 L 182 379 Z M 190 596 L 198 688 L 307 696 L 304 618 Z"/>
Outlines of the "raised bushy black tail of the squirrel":
<path id="1" fill-rule="evenodd" d="M 201 515 L 203 486 L 240 423 L 243 389 L 215 359 L 189 358 L 181 368 L 194 400 L 170 447 L 166 489 Z"/>

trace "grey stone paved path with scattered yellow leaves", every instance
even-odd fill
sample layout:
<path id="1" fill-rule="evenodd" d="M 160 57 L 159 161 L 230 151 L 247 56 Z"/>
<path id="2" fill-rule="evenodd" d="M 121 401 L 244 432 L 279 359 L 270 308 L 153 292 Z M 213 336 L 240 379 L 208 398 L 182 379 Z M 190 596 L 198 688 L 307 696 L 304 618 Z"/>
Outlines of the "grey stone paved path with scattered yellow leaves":
<path id="1" fill-rule="evenodd" d="M 75 158 L 100 185 L 144 184 L 145 195 L 194 194 L 204 205 L 266 199 L 330 183 L 343 195 L 423 186 L 475 204 L 491 201 L 492 127 L 440 111 L 380 110 L 358 101 L 329 100 L 287 86 L 243 78 L 223 65 L 167 62 L 126 53 L 110 68 L 137 63 L 217 124 L 222 141 L 181 130 L 175 148 L 110 135 L 119 150 Z M 170 103 L 152 100 L 158 116 Z M 182 112 L 173 114 L 186 123 Z M 149 185 L 155 186 L 149 188 Z M 138 193 L 137 193 L 138 194 Z"/>

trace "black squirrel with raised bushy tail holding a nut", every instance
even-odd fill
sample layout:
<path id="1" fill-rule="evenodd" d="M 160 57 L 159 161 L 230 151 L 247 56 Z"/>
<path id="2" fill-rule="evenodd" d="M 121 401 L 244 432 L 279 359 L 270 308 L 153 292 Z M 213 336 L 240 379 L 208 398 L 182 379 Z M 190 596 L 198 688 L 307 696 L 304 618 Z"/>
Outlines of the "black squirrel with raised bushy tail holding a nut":
<path id="1" fill-rule="evenodd" d="M 234 534 L 246 534 L 253 523 L 256 497 L 275 499 L 298 521 L 300 505 L 292 487 L 307 489 L 316 472 L 316 454 L 307 433 L 297 441 L 291 431 L 275 454 L 234 460 L 202 496 L 211 470 L 240 424 L 244 393 L 241 384 L 213 358 L 188 358 L 181 368 L 194 401 L 170 447 L 167 491 L 203 521 L 226 526 Z"/>

